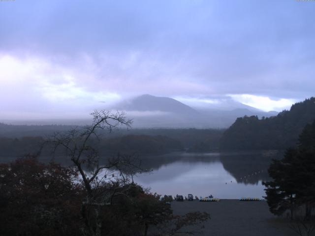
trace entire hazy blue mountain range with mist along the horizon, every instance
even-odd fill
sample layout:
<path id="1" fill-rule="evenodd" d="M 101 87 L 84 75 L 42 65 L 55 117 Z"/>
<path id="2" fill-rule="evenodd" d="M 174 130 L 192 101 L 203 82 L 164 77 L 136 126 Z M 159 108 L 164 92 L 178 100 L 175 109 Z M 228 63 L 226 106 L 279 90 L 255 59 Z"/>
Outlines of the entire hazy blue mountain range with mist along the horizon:
<path id="1" fill-rule="evenodd" d="M 133 119 L 133 128 L 197 128 L 197 129 L 225 129 L 228 128 L 236 118 L 244 116 L 271 117 L 277 112 L 263 112 L 251 106 L 226 99 L 220 107 L 205 103 L 202 107 L 192 107 L 181 101 L 170 97 L 158 97 L 144 94 L 115 105 L 102 103 L 96 109 L 112 110 L 115 112 L 125 111 L 127 118 Z M 86 125 L 91 119 L 85 116 L 73 118 L 51 118 L 51 119 L 25 119 L 25 120 L 1 120 L 0 122 L 14 125 Z M 47 126 L 47 129 L 50 129 Z M 45 128 L 45 127 L 42 127 Z M 42 129 L 41 128 L 41 129 Z M 31 129 L 31 127 L 29 127 Z M 36 127 L 37 130 L 37 127 Z M 1 131 L 1 130 L 0 130 Z M 0 132 L 1 133 L 1 132 Z"/>

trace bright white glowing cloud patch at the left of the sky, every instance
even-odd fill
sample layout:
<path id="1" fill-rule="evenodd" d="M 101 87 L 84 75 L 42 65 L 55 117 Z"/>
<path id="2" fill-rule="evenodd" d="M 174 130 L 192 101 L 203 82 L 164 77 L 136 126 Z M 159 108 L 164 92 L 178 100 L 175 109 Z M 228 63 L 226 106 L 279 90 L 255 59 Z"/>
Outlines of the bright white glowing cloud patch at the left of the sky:
<path id="1" fill-rule="evenodd" d="M 101 107 L 99 101 L 116 102 L 121 96 L 115 92 L 100 89 L 89 90 L 79 84 L 80 70 L 56 65 L 43 58 L 18 59 L 0 55 L 0 107 L 5 114 L 30 112 L 62 117 L 65 112 L 81 114 Z"/>

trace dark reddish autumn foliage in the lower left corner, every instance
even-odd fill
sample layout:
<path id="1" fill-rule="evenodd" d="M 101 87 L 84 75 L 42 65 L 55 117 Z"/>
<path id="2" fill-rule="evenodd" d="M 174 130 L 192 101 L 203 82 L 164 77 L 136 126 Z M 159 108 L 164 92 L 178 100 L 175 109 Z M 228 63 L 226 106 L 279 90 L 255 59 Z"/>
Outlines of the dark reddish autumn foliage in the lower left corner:
<path id="1" fill-rule="evenodd" d="M 0 164 L 0 235 L 78 235 L 77 173 L 34 157 Z"/>

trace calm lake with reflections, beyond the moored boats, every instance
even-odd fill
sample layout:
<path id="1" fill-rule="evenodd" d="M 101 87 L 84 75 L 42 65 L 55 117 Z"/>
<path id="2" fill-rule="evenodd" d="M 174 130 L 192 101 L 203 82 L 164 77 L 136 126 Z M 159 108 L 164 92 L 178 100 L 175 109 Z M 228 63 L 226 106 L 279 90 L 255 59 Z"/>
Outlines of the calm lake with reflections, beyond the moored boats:
<path id="1" fill-rule="evenodd" d="M 150 173 L 135 182 L 161 195 L 209 196 L 220 199 L 265 196 L 262 181 L 269 180 L 267 169 L 276 151 L 243 153 L 170 153 L 144 156 Z"/>

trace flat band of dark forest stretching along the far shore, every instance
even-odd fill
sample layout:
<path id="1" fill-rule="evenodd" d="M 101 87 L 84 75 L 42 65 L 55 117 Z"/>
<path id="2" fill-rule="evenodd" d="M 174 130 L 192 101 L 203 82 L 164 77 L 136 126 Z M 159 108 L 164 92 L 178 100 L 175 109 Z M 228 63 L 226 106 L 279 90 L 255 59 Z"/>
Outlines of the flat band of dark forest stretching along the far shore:
<path id="1" fill-rule="evenodd" d="M 79 126 L 77 128 L 80 128 Z M 36 154 L 55 132 L 73 129 L 70 125 L 9 125 L 0 123 L 0 156 L 10 161 L 27 153 Z M 118 129 L 102 131 L 94 146 L 101 154 L 161 154 L 170 151 L 219 149 L 223 130 L 217 129 Z M 50 155 L 46 148 L 41 156 Z M 6 157 L 6 158 L 5 158 Z"/>

